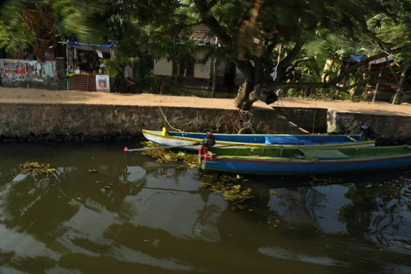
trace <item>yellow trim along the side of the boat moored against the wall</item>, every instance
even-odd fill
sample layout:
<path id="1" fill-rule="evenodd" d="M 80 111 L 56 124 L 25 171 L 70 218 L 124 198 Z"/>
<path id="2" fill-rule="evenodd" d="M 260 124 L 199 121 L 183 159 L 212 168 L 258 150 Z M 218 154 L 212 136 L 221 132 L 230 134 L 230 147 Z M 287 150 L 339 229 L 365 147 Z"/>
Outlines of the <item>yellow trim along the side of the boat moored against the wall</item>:
<path id="1" fill-rule="evenodd" d="M 188 142 L 202 142 L 202 139 L 197 139 L 197 138 L 186 138 L 186 137 L 177 137 L 177 136 L 170 136 L 169 134 L 167 134 L 166 136 L 162 135 L 162 134 L 156 134 L 154 132 L 152 132 L 151 130 L 147 130 L 147 129 L 142 129 L 142 133 L 148 134 L 148 135 L 152 135 L 152 136 L 156 136 L 156 137 L 161 137 L 164 139 L 173 139 L 173 140 L 184 140 L 184 141 L 188 141 Z M 355 140 L 355 139 L 354 139 Z M 242 144 L 242 142 L 221 142 L 221 141 L 216 141 L 216 144 L 218 145 L 240 145 Z M 371 140 L 371 141 L 366 141 L 366 142 L 351 142 L 351 143 L 347 143 L 347 144 L 336 144 L 336 145 L 266 145 L 266 144 L 255 144 L 255 143 L 247 143 L 245 142 L 245 145 L 250 145 L 250 147 L 353 147 L 356 145 L 373 145 L 375 144 L 375 140 Z"/>

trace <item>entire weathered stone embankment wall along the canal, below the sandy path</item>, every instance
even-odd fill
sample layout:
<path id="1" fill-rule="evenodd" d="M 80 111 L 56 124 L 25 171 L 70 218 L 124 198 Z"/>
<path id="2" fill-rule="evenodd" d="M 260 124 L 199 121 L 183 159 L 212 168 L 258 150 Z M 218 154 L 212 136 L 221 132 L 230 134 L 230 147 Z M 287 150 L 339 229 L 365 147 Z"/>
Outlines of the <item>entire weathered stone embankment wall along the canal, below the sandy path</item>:
<path id="1" fill-rule="evenodd" d="M 305 134 L 300 128 L 303 127 L 310 132 L 314 128 L 316 134 L 358 134 L 360 125 L 368 123 L 376 132 L 377 145 L 411 144 L 411 116 L 309 108 L 251 112 L 177 107 L 162 110 L 173 127 L 185 132 L 212 130 L 233 134 L 242 127 L 252 127 L 257 134 Z M 138 140 L 143 138 L 142 129 L 173 130 L 164 116 L 158 106 L 0 103 L 0 140 Z"/>

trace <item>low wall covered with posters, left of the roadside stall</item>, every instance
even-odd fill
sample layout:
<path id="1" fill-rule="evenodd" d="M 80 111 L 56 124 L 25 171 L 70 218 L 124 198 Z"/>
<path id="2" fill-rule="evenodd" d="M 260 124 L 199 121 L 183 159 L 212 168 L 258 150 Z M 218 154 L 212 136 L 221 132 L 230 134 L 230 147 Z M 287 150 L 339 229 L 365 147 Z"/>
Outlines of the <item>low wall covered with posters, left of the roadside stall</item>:
<path id="1" fill-rule="evenodd" d="M 64 59 L 55 62 L 38 62 L 36 60 L 18 60 L 25 64 L 25 74 L 7 74 L 3 64 L 10 60 L 0 60 L 0 82 L 2 86 L 12 88 L 45 88 L 53 90 L 66 89 Z"/>

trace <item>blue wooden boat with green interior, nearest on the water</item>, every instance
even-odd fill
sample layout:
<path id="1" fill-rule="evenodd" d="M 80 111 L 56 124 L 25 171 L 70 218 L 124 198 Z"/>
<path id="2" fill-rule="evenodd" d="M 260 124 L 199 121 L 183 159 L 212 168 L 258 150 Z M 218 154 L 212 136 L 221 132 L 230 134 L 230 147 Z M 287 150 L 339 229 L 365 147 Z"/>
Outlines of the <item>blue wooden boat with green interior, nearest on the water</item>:
<path id="1" fill-rule="evenodd" d="M 199 149 L 202 169 L 257 175 L 321 175 L 411 165 L 411 146 L 340 149 Z"/>

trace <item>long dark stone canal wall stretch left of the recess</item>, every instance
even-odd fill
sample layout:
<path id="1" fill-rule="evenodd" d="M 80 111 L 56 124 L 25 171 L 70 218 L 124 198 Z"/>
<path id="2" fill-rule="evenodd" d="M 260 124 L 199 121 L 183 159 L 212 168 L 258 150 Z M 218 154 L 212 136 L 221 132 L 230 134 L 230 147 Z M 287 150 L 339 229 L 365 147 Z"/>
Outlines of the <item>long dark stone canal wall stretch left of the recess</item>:
<path id="1" fill-rule="evenodd" d="M 186 132 L 236 133 L 242 119 L 257 133 L 291 134 L 274 110 L 219 110 L 163 107 L 173 125 Z M 142 138 L 141 129 L 166 125 L 158 106 L 0 103 L 0 140 L 111 140 Z"/>

